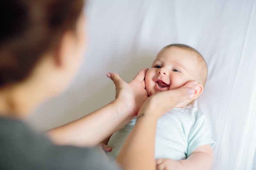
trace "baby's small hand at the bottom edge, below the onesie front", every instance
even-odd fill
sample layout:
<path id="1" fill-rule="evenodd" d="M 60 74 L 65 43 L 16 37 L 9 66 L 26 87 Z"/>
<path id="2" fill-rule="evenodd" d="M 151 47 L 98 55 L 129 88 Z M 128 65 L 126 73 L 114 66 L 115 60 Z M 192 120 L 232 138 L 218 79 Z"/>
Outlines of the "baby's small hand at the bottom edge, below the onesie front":
<path id="1" fill-rule="evenodd" d="M 156 159 L 156 170 L 179 170 L 182 165 L 179 161 L 173 159 Z"/>

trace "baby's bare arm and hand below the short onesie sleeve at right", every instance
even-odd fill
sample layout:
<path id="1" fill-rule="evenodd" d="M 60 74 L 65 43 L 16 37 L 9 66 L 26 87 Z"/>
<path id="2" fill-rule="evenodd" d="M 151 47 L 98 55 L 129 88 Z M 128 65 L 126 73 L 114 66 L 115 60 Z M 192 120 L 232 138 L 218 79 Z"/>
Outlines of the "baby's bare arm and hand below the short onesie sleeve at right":
<path id="1" fill-rule="evenodd" d="M 207 170 L 212 165 L 213 152 L 210 144 L 198 146 L 185 160 L 157 159 L 157 170 Z"/>

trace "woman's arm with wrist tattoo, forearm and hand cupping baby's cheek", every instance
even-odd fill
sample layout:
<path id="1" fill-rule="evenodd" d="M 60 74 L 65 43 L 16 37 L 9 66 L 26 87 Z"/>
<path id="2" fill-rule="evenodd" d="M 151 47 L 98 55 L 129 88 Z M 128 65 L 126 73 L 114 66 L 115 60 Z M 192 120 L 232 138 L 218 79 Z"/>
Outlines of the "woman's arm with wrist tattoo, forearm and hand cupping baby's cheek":
<path id="1" fill-rule="evenodd" d="M 195 84 L 196 81 L 190 81 L 178 89 L 157 92 L 144 102 L 138 112 L 137 122 L 116 157 L 121 166 L 126 169 L 156 169 L 154 149 L 148 148 L 155 146 L 157 120 L 177 104 L 189 99 L 195 93 Z"/>

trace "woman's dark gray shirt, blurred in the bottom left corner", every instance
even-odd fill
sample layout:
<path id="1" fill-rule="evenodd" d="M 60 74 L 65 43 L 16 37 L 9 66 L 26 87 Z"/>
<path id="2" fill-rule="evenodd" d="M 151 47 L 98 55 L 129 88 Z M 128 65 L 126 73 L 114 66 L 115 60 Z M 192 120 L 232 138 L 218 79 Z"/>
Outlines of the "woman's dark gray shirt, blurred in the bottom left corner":
<path id="1" fill-rule="evenodd" d="M 58 146 L 23 122 L 0 118 L 0 169 L 118 170 L 95 148 Z"/>

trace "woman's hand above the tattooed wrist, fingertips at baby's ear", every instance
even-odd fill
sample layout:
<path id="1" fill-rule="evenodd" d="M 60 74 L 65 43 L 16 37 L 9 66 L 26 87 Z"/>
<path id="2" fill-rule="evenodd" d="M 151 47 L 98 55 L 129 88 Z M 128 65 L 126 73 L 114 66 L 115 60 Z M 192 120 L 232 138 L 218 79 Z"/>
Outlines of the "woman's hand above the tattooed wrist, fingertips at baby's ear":
<path id="1" fill-rule="evenodd" d="M 138 112 L 138 116 L 141 114 L 147 114 L 158 118 L 173 107 L 176 107 L 183 101 L 193 97 L 196 87 L 196 81 L 192 80 L 178 89 L 158 92 L 150 96 L 142 105 Z"/>

